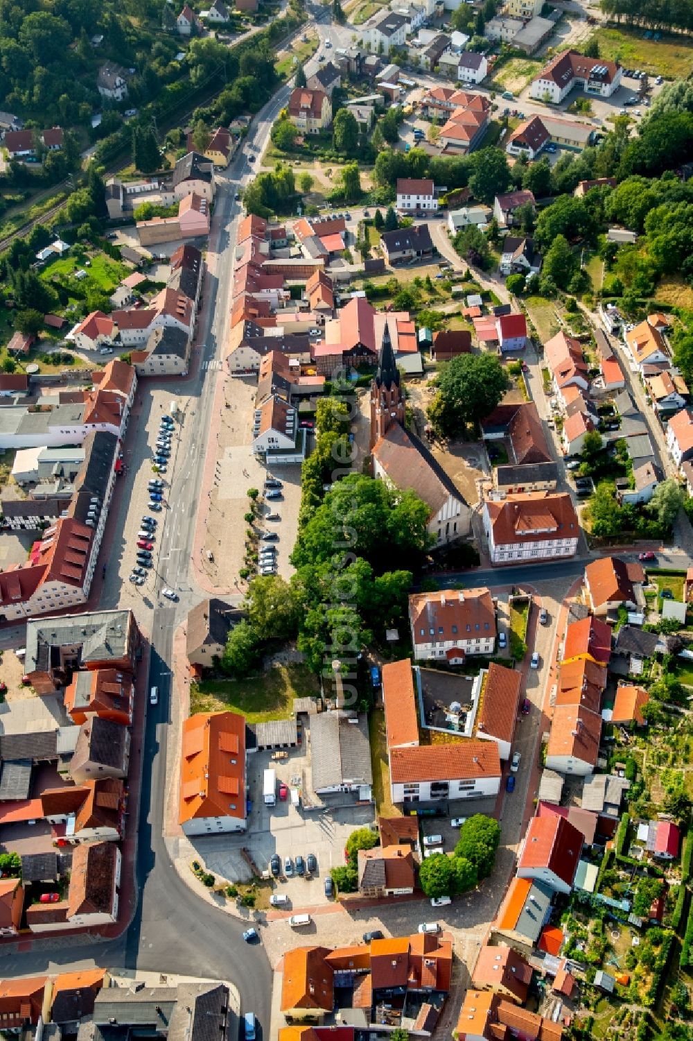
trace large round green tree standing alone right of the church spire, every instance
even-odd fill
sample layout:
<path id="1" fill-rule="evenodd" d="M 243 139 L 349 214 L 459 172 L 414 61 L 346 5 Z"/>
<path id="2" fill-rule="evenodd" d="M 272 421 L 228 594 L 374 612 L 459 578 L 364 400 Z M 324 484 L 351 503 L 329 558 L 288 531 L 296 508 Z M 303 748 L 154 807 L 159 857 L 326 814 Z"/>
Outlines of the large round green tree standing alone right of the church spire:
<path id="1" fill-rule="evenodd" d="M 443 434 L 459 435 L 467 424 L 491 414 L 508 385 L 506 371 L 492 354 L 459 355 L 440 370 L 429 416 Z"/>

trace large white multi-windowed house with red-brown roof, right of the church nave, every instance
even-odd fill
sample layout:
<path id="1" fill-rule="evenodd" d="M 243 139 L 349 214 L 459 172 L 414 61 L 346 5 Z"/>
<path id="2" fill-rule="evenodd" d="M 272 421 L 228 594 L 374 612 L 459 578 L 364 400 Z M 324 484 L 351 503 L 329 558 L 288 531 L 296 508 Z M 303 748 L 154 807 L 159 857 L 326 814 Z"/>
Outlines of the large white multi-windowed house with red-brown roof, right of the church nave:
<path id="1" fill-rule="evenodd" d="M 580 523 L 570 496 L 546 491 L 486 499 L 484 531 L 491 563 L 553 560 L 576 552 Z"/>

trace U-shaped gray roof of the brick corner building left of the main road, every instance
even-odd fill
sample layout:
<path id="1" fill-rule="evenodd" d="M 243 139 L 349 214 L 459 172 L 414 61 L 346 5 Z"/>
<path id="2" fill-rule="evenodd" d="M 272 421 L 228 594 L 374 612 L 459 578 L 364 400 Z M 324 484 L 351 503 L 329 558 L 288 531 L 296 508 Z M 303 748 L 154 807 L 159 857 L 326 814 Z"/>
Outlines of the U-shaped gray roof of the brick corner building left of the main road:
<path id="1" fill-rule="evenodd" d="M 49 671 L 53 649 L 73 645 L 81 646 L 82 666 L 89 661 L 117 661 L 128 653 L 131 618 L 132 612 L 127 610 L 32 618 L 26 627 L 24 668 L 27 672 Z"/>

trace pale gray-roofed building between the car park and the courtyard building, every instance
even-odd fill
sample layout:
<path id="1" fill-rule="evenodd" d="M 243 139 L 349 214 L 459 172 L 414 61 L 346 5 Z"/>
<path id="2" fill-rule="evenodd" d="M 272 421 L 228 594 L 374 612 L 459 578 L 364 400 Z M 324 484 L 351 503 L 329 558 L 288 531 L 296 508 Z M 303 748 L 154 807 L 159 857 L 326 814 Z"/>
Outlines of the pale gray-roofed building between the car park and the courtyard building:
<path id="1" fill-rule="evenodd" d="M 357 722 L 350 722 L 350 718 Z M 354 712 L 322 712 L 311 716 L 313 789 L 319 792 L 342 784 L 373 784 L 368 722 Z"/>

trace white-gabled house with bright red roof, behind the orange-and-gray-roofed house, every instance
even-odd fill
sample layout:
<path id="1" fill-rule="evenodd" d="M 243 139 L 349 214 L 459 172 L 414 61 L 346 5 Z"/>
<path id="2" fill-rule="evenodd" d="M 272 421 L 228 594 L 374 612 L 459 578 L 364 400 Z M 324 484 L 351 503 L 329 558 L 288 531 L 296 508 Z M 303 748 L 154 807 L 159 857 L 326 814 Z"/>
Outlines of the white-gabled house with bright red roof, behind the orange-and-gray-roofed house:
<path id="1" fill-rule="evenodd" d="M 520 847 L 517 877 L 569 893 L 582 849 L 582 834 L 565 817 L 533 817 Z"/>

